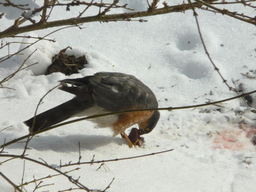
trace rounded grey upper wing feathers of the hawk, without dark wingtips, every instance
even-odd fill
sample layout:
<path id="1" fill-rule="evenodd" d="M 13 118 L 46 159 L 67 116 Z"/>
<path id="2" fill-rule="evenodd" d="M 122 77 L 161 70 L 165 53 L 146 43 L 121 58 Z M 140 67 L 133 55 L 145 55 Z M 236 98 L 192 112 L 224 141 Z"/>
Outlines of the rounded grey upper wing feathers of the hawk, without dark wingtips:
<path id="1" fill-rule="evenodd" d="M 111 76 L 108 76 L 111 75 Z M 123 73 L 96 73 L 90 78 L 93 97 L 100 107 L 111 111 L 157 107 L 154 93 L 134 76 Z"/>

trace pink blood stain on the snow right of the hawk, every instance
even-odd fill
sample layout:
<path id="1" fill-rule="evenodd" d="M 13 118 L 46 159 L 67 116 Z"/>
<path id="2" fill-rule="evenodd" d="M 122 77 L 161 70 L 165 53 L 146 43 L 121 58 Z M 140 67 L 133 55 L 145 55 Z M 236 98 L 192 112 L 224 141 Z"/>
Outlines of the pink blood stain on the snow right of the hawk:
<path id="1" fill-rule="evenodd" d="M 255 145 L 256 128 L 246 125 L 239 127 L 218 132 L 213 140 L 213 149 L 242 150 L 248 146 L 248 139 L 251 145 Z"/>

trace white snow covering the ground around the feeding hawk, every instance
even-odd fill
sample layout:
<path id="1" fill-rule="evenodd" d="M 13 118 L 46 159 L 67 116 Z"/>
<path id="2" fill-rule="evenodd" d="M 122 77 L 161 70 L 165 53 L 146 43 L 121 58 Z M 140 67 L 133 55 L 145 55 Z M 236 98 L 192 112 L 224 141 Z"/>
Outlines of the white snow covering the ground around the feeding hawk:
<path id="1" fill-rule="evenodd" d="M 122 1 L 124 2 L 124 1 Z M 145 10 L 146 1 L 130 0 L 130 6 L 136 10 Z M 167 1 L 168 2 L 168 1 Z M 37 2 L 39 4 L 39 1 Z M 170 5 L 182 3 L 171 1 Z M 255 5 L 255 3 L 254 3 Z M 159 6 L 160 7 L 160 6 Z M 219 6 L 221 7 L 221 6 Z M 229 9 L 239 10 L 253 15 L 254 9 L 230 5 Z M 243 10 L 244 9 L 244 10 Z M 64 19 L 78 15 L 79 7 L 72 7 L 70 12 L 58 8 L 50 19 Z M 98 12 L 91 7 L 87 15 Z M 127 12 L 113 9 L 110 13 Z M 65 14 L 63 14 L 65 13 Z M 244 83 L 246 91 L 256 88 L 256 80 L 242 76 L 249 70 L 256 70 L 256 35 L 255 26 L 242 21 L 197 10 L 201 33 L 211 58 L 229 85 L 232 79 Z M 38 19 L 38 17 L 33 17 Z M 203 104 L 209 100 L 217 101 L 237 96 L 229 91 L 220 76 L 214 70 L 201 44 L 192 11 L 171 13 L 142 18 L 137 21 L 109 23 L 87 23 L 82 30 L 77 27 L 66 28 L 52 33 L 47 38 L 56 43 L 41 41 L 23 55 L 11 58 L 0 65 L 0 78 L 14 72 L 24 59 L 36 48 L 26 65 L 37 65 L 17 73 L 5 87 L 0 89 L 0 142 L 13 140 L 28 134 L 28 128 L 22 123 L 31 118 L 43 95 L 58 85 L 57 81 L 65 78 L 78 78 L 92 75 L 99 71 L 123 72 L 136 76 L 148 85 L 159 100 L 159 107 L 179 107 Z M 8 27 L 8 20 L 1 19 L 1 31 Z M 45 36 L 56 30 L 49 28 L 27 33 L 30 36 Z M 5 39 L 4 41 L 21 39 Z M 32 39 L 23 39 L 31 42 Z M 41 75 L 51 63 L 51 58 L 59 50 L 71 46 L 68 54 L 86 55 L 88 64 L 79 74 L 65 76 L 62 73 Z M 10 45 L 10 51 L 23 48 L 21 44 Z M 0 50 L 4 56 L 7 50 Z M 36 75 L 36 76 L 35 76 Z M 213 94 L 210 94 L 212 92 Z M 40 104 L 38 113 L 61 104 L 73 96 L 60 90 L 53 90 Z M 254 100 L 255 95 L 253 95 Z M 69 171 L 80 167 L 78 171 L 68 173 L 90 189 L 104 189 L 113 178 L 109 192 L 245 192 L 256 188 L 256 148 L 251 142 L 256 127 L 256 114 L 247 110 L 246 102 L 232 100 L 223 103 L 223 108 L 207 106 L 197 109 L 161 111 L 156 128 L 145 135 L 143 148 L 128 148 L 120 136 L 112 137 L 110 129 L 95 129 L 89 121 L 62 126 L 34 137 L 29 142 L 28 157 L 47 162 L 57 167 L 60 163 L 78 161 L 78 142 L 81 146 L 81 161 L 95 161 L 138 156 L 174 149 L 168 153 L 146 156 L 143 158 L 107 162 L 107 171 L 97 168 L 100 164 L 85 164 L 67 168 Z M 253 102 L 256 107 L 256 102 Z M 217 110 L 220 109 L 220 110 Z M 207 112 L 206 112 L 207 111 Z M 235 113 L 235 111 L 242 111 Z M 241 129 L 239 122 L 246 123 Z M 129 133 L 130 128 L 127 130 Z M 21 154 L 24 143 L 6 147 L 8 154 Z M 0 161 L 4 161 L 2 158 Z M 21 183 L 24 161 L 15 159 L 0 166 L 15 184 Z M 108 169 L 109 168 L 109 169 Z M 109 171 L 110 170 L 110 171 Z M 43 178 L 56 172 L 43 166 L 26 161 L 24 182 L 33 180 L 33 176 Z M 67 178 L 57 176 L 43 180 L 37 191 L 66 190 L 72 185 Z M 50 185 L 54 183 L 54 185 Z M 26 191 L 33 191 L 35 185 L 25 186 Z M 0 192 L 12 192 L 13 187 L 0 177 Z M 79 190 L 76 190 L 79 191 Z"/>

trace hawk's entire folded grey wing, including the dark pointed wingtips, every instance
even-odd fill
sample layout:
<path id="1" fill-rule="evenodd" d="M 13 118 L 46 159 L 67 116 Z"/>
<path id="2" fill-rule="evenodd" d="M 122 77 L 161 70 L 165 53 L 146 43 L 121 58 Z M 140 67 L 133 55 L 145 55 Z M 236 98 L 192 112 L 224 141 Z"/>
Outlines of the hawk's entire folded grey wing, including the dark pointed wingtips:
<path id="1" fill-rule="evenodd" d="M 59 89 L 78 96 L 81 100 L 94 101 L 109 111 L 158 107 L 154 93 L 135 76 L 124 73 L 99 72 L 94 76 L 66 79 Z M 136 105 L 136 106 L 134 106 Z"/>

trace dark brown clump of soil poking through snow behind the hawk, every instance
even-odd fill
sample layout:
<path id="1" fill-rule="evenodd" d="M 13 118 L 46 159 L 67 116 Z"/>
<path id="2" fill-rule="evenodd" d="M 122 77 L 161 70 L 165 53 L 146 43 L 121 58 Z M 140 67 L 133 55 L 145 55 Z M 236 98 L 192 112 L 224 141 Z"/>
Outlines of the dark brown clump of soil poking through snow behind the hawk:
<path id="1" fill-rule="evenodd" d="M 82 57 L 76 57 L 75 55 L 66 55 L 65 51 L 71 47 L 66 47 L 61 50 L 59 54 L 52 57 L 52 64 L 48 66 L 45 75 L 49 75 L 55 72 L 61 72 L 69 76 L 73 73 L 78 73 L 79 70 L 84 68 L 84 65 L 87 64 L 85 55 Z"/>

